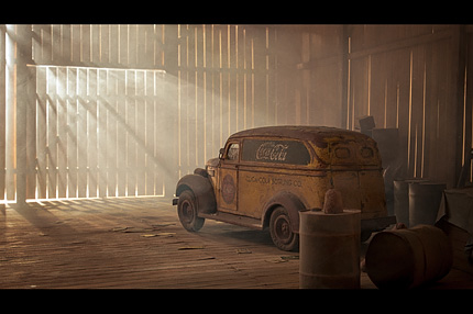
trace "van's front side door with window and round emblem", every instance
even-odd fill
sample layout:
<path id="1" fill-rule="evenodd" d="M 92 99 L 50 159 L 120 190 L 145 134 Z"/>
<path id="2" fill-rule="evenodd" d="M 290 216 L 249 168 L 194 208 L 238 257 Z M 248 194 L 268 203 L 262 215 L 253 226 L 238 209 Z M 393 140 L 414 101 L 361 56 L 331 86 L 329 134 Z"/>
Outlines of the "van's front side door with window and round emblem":
<path id="1" fill-rule="evenodd" d="M 222 212 L 235 212 L 238 205 L 238 167 L 240 164 L 240 144 L 227 144 L 220 159 L 218 175 L 218 206 Z"/>

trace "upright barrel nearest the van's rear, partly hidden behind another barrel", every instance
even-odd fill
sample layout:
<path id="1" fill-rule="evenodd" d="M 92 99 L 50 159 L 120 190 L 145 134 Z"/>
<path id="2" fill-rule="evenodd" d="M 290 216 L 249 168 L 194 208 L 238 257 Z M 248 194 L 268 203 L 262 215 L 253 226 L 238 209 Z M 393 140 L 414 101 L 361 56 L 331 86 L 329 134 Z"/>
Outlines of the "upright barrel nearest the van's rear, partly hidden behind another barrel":
<path id="1" fill-rule="evenodd" d="M 426 179 L 394 180 L 394 214 L 397 222 L 409 226 L 409 186 L 427 182 Z"/>

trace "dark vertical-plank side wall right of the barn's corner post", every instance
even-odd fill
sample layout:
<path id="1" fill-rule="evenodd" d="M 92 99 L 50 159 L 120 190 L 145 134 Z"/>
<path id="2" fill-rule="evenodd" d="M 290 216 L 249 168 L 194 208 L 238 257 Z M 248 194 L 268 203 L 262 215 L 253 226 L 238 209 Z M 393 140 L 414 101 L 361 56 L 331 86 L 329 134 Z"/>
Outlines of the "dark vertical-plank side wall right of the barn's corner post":
<path id="1" fill-rule="evenodd" d="M 373 115 L 376 127 L 398 128 L 402 176 L 454 187 L 465 136 L 460 27 L 352 25 L 348 33 L 346 128 L 364 115 Z"/>

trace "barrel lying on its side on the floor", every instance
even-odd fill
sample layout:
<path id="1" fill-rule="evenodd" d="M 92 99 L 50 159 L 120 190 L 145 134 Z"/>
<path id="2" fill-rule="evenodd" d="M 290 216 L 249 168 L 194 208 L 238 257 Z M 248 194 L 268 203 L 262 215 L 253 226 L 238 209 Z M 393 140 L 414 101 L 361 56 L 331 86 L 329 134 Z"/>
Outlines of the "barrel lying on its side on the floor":
<path id="1" fill-rule="evenodd" d="M 366 255 L 366 273 L 380 289 L 411 289 L 447 276 L 453 254 L 442 229 L 430 225 L 377 233 Z"/>

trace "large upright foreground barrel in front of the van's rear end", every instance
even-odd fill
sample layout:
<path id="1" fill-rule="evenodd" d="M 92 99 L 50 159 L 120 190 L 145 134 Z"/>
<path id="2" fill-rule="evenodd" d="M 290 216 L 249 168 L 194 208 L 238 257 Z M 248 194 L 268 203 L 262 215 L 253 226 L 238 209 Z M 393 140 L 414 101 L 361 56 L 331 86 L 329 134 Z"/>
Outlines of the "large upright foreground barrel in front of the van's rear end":
<path id="1" fill-rule="evenodd" d="M 360 288 L 360 215 L 300 213 L 299 288 Z"/>

